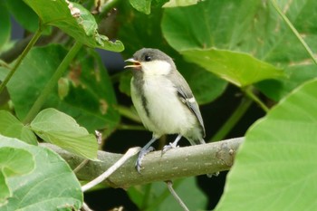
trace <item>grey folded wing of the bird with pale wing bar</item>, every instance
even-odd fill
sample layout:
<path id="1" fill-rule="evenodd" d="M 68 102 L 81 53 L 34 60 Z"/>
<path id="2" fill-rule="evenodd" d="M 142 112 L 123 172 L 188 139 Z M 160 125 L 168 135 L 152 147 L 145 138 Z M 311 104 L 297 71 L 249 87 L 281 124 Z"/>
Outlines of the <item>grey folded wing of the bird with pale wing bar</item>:
<path id="1" fill-rule="evenodd" d="M 203 130 L 203 137 L 205 137 L 206 131 L 204 121 L 201 117 L 197 101 L 183 76 L 179 72 L 176 72 L 176 74 L 178 74 L 178 77 L 171 77 L 171 79 L 175 84 L 175 88 L 178 90 L 178 96 L 180 100 L 187 105 L 187 108 L 191 110 L 197 117 L 197 120 L 199 121 L 199 124 Z"/>

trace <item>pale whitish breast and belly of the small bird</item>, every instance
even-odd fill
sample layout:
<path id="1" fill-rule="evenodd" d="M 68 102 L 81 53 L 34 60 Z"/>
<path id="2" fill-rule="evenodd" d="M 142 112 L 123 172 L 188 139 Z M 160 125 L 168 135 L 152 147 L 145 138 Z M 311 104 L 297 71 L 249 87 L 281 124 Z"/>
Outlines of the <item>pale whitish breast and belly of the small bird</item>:
<path id="1" fill-rule="evenodd" d="M 131 96 L 140 119 L 154 135 L 158 137 L 163 134 L 184 135 L 197 124 L 195 116 L 183 102 L 179 101 L 178 91 L 167 77 L 146 73 L 143 77 L 142 89 L 149 116 L 142 106 L 141 96 L 133 82 L 131 82 Z"/>

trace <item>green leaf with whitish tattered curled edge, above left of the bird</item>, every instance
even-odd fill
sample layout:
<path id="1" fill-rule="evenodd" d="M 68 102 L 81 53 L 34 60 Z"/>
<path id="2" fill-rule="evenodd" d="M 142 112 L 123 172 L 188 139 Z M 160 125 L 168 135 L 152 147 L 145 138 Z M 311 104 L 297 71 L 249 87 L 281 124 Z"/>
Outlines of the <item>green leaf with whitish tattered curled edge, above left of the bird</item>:
<path id="1" fill-rule="evenodd" d="M 91 48 L 113 52 L 124 50 L 120 41 L 111 42 L 107 36 L 98 33 L 96 20 L 82 5 L 67 3 L 64 0 L 24 0 L 24 2 L 39 15 L 42 24 L 56 26 Z"/>

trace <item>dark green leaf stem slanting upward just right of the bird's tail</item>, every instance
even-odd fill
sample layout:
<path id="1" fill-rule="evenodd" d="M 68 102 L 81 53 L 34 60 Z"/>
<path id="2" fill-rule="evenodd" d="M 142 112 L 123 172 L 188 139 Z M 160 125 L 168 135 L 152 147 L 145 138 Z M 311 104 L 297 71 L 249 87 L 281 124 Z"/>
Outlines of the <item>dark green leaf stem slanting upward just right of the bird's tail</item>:
<path id="1" fill-rule="evenodd" d="M 216 132 L 210 141 L 224 139 L 230 130 L 235 127 L 236 123 L 245 115 L 246 110 L 250 108 L 252 102 L 250 98 L 244 98 L 235 109 L 235 112 L 226 120 L 225 124 Z"/>

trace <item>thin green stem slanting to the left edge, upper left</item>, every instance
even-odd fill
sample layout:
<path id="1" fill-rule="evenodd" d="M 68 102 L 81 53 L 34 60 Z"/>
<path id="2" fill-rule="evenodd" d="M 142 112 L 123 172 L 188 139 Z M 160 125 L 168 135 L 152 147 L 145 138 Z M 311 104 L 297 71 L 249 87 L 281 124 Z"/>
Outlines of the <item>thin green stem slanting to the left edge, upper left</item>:
<path id="1" fill-rule="evenodd" d="M 21 62 L 24 60 L 24 57 L 27 53 L 30 52 L 31 48 L 34 46 L 34 44 L 37 42 L 37 40 L 40 38 L 41 34 L 43 32 L 43 27 L 39 27 L 34 36 L 32 37 L 31 41 L 26 45 L 24 48 L 24 51 L 21 53 L 21 55 L 17 58 L 16 62 L 14 63 L 14 67 L 10 70 L 10 72 L 6 75 L 4 82 L 0 84 L 0 93 L 4 91 L 6 84 L 10 81 L 12 76 L 14 75 L 14 72 L 16 72 L 17 68 L 20 66 Z"/>

